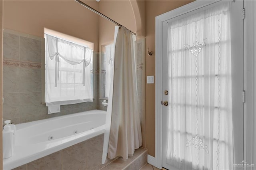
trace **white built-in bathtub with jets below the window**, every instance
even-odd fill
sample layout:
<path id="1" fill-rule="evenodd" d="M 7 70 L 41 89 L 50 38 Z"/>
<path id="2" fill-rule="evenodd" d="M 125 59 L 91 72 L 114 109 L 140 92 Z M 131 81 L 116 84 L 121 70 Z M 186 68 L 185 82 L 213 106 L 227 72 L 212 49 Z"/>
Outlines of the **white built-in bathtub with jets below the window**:
<path id="1" fill-rule="evenodd" d="M 106 111 L 92 110 L 16 125 L 12 157 L 4 159 L 10 170 L 104 133 Z"/>

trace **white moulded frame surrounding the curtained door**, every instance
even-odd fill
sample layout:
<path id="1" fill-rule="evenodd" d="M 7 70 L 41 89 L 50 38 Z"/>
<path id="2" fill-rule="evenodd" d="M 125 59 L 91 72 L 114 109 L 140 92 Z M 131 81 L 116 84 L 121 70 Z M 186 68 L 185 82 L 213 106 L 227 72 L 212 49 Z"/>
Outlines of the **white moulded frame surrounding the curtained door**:
<path id="1" fill-rule="evenodd" d="M 164 14 L 161 14 L 159 16 L 156 16 L 156 57 L 155 57 L 155 63 L 156 63 L 156 69 L 155 69 L 155 159 L 152 160 L 152 163 L 154 163 L 153 165 L 156 166 L 157 168 L 162 168 L 162 45 L 163 45 L 163 40 L 162 40 L 162 29 L 163 29 L 163 22 L 166 20 L 169 20 L 171 18 L 175 18 L 177 16 L 180 16 L 182 14 L 186 14 L 188 12 L 191 12 L 193 10 L 197 10 L 199 8 L 202 8 L 204 6 L 208 6 L 210 4 L 214 4 L 216 2 L 219 2 L 220 0 L 211 0 L 211 1 L 200 1 L 200 0 L 196 0 L 194 2 L 191 2 L 189 4 L 186 4 L 184 6 L 181 6 L 180 8 L 176 8 L 172 11 L 166 12 Z M 245 4 L 245 7 L 250 6 L 250 4 Z M 251 16 L 250 14 L 252 14 L 252 9 L 249 9 L 248 11 L 246 11 L 246 15 Z M 242 11 L 241 11 L 241 17 L 242 17 Z M 248 29 L 245 29 L 245 36 L 244 36 L 244 45 L 248 45 L 249 43 L 251 44 L 252 42 L 252 38 L 250 35 L 252 35 L 252 20 L 251 18 L 249 18 L 250 20 L 246 20 L 246 17 L 244 19 L 244 26 Z M 249 24 L 248 24 L 249 23 Z M 250 29 L 249 29 L 250 28 Z M 254 44 L 256 45 L 256 44 Z M 252 47 L 248 47 L 245 48 L 244 50 L 244 58 L 245 58 L 245 70 L 244 71 L 244 87 L 246 90 L 247 94 L 252 94 L 253 92 L 253 86 L 252 83 L 253 81 L 253 73 L 252 73 L 252 63 L 250 62 L 252 61 L 252 55 L 250 55 L 251 51 L 252 51 Z M 251 64 L 251 65 L 250 65 Z M 256 72 L 256 71 L 255 71 Z M 256 75 L 256 73 L 254 74 Z M 246 77 L 252 77 L 252 79 L 246 79 Z M 247 83 L 248 82 L 248 83 Z M 247 84 L 249 84 L 248 88 Z M 242 96 L 241 96 L 242 97 Z M 248 97 L 251 97 L 248 95 Z M 248 97 L 246 96 L 246 101 L 248 101 Z M 252 97 L 251 97 L 252 98 Z M 256 95 L 254 97 L 256 99 Z M 255 100 L 254 100 L 255 101 Z M 249 108 L 253 107 L 253 102 L 248 102 L 245 103 L 245 107 L 244 107 L 244 144 L 249 144 L 249 147 L 252 147 L 252 138 L 250 137 L 250 142 L 247 143 L 247 137 L 248 135 L 246 135 L 248 132 L 249 134 L 252 134 L 252 123 L 249 123 L 249 125 L 246 123 L 246 118 L 248 117 L 252 117 L 252 112 L 250 112 L 250 114 L 247 114 L 247 110 Z M 250 119 L 249 119 L 250 120 Z M 251 119 L 253 120 L 253 119 Z M 255 132 L 254 132 L 255 133 Z M 254 136 L 255 138 L 255 136 Z M 255 142 L 255 141 L 254 141 Z M 244 155 L 246 155 L 246 148 L 244 147 Z M 256 150 L 256 148 L 253 148 L 254 151 Z M 248 153 L 247 153 L 248 154 Z M 248 155 L 247 159 L 248 160 L 252 160 L 252 153 L 250 153 L 250 156 Z M 250 158 L 249 158 L 250 157 Z M 255 159 L 255 158 L 254 158 Z M 254 164 L 256 164 L 256 162 L 252 162 Z"/>

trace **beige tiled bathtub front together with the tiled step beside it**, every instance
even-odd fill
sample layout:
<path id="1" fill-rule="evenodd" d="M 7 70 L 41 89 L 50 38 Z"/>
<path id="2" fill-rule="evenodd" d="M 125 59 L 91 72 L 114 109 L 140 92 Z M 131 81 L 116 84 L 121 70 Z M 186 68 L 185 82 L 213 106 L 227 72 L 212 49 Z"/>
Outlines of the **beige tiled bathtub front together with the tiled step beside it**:
<path id="1" fill-rule="evenodd" d="M 101 164 L 104 134 L 90 138 L 13 170 L 139 170 L 147 162 L 147 150 L 136 149 L 132 157 L 106 159 Z"/>

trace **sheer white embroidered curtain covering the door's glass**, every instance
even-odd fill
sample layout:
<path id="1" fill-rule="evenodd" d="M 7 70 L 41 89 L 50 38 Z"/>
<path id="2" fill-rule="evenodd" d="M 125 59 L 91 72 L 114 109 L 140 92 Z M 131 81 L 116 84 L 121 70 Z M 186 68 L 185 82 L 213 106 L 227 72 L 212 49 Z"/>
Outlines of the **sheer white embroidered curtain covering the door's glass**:
<path id="1" fill-rule="evenodd" d="M 168 23 L 167 162 L 232 169 L 230 3 Z"/>

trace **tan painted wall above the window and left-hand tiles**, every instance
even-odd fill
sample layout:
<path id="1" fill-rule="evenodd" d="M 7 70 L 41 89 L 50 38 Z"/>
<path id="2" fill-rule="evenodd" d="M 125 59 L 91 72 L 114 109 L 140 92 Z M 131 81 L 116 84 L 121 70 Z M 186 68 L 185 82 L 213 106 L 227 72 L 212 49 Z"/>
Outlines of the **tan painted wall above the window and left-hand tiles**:
<path id="1" fill-rule="evenodd" d="M 98 9 L 98 2 L 86 4 Z M 4 28 L 44 37 L 44 27 L 94 43 L 98 51 L 98 15 L 74 1 L 4 1 Z"/>

